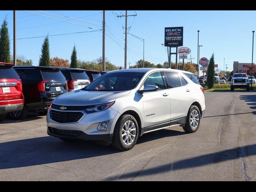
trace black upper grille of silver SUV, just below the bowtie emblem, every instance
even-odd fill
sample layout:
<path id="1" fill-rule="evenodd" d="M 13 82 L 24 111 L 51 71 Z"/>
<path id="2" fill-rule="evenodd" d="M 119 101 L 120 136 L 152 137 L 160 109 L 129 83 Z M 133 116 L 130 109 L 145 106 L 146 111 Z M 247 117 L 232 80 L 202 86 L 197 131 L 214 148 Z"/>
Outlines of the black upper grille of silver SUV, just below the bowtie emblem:
<path id="1" fill-rule="evenodd" d="M 56 111 L 51 109 L 51 119 L 58 123 L 74 123 L 78 122 L 84 114 L 82 112 Z"/>

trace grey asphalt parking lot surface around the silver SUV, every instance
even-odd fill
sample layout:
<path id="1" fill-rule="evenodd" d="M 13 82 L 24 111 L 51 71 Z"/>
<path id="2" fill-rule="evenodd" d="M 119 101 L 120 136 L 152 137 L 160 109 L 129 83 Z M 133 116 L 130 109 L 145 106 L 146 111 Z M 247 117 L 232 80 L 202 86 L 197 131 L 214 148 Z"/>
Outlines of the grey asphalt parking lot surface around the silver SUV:
<path id="1" fill-rule="evenodd" d="M 200 129 L 144 134 L 120 152 L 46 133 L 46 117 L 0 124 L 0 180 L 256 180 L 256 92 L 205 92 Z"/>

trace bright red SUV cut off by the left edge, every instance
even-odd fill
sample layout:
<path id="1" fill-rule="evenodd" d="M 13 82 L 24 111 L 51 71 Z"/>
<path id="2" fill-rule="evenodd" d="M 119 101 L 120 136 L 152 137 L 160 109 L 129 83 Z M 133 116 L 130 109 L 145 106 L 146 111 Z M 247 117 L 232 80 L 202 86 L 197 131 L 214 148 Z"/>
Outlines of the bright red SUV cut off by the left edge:
<path id="1" fill-rule="evenodd" d="M 22 110 L 24 106 L 22 82 L 13 65 L 0 62 L 0 122 L 8 112 Z"/>

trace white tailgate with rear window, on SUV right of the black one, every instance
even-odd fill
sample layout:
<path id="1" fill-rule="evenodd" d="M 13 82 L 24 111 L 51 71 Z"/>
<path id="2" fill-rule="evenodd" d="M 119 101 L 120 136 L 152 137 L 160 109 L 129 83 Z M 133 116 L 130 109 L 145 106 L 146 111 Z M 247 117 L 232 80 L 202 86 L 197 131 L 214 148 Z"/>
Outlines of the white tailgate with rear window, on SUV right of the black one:
<path id="1" fill-rule="evenodd" d="M 74 90 L 82 89 L 86 85 L 90 84 L 89 78 L 84 70 L 70 70 L 70 74 L 72 76 Z"/>

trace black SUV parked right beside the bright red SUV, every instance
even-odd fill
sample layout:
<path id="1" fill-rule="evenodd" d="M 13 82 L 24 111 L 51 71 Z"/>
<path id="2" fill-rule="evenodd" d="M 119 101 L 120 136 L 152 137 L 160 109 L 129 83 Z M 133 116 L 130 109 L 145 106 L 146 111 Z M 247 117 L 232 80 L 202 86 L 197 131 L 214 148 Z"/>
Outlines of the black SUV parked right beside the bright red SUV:
<path id="1" fill-rule="evenodd" d="M 9 113 L 11 119 L 25 118 L 32 110 L 36 110 L 40 115 L 46 115 L 52 100 L 68 92 L 67 81 L 60 68 L 40 66 L 13 68 L 22 80 L 25 101 L 22 110 Z"/>

